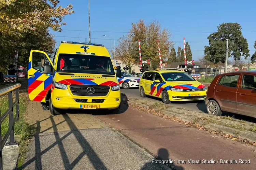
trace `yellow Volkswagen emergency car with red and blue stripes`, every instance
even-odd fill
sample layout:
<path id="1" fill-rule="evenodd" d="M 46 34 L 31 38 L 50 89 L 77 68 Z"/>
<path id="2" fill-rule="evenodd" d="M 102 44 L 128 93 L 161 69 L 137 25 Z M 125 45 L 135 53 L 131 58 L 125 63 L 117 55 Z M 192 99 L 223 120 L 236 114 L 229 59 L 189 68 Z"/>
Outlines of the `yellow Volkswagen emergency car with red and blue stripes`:
<path id="1" fill-rule="evenodd" d="M 204 100 L 206 92 L 203 84 L 179 69 L 145 71 L 140 79 L 140 96 L 162 98 L 163 103 Z"/>

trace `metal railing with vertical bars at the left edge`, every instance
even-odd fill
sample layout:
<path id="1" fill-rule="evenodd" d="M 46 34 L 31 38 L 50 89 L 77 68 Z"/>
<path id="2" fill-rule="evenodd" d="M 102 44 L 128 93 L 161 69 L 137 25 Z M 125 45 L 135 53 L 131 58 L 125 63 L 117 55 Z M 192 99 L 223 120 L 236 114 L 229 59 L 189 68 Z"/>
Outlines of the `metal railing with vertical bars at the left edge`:
<path id="1" fill-rule="evenodd" d="M 14 123 L 16 121 L 19 121 L 19 87 L 21 85 L 19 83 L 7 86 L 4 88 L 0 89 L 0 97 L 8 93 L 8 104 L 9 107 L 6 112 L 1 116 L 0 118 L 0 170 L 3 169 L 3 155 L 2 155 L 2 150 L 3 147 L 5 146 L 5 143 L 10 136 L 10 145 L 14 144 Z M 16 97 L 15 101 L 13 102 L 13 90 L 16 89 Z M 13 107 L 16 106 L 16 116 L 13 118 Z M 1 115 L 1 108 L 0 108 L 0 115 Z M 4 135 L 2 139 L 2 132 L 1 132 L 1 125 L 4 121 L 4 119 L 9 115 L 9 129 Z"/>

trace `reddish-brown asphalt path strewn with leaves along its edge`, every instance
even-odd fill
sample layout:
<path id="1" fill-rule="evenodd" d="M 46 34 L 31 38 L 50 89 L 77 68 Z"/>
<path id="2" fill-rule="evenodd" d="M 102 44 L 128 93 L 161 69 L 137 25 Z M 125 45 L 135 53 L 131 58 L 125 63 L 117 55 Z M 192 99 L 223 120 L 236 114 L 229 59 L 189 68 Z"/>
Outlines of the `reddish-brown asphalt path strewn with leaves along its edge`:
<path id="1" fill-rule="evenodd" d="M 205 131 L 123 106 L 116 115 L 96 115 L 161 160 L 173 160 L 175 170 L 246 169 L 256 167 L 255 147 L 223 139 Z M 189 163 L 189 160 L 199 164 Z M 204 164 L 204 160 L 209 162 Z M 250 160 L 250 164 L 223 164 L 222 160 Z M 183 162 L 177 162 L 183 160 Z M 136 162 L 134 162 L 136 164 Z M 151 164 L 151 163 L 150 163 Z M 132 169 L 132 168 L 130 168 Z"/>

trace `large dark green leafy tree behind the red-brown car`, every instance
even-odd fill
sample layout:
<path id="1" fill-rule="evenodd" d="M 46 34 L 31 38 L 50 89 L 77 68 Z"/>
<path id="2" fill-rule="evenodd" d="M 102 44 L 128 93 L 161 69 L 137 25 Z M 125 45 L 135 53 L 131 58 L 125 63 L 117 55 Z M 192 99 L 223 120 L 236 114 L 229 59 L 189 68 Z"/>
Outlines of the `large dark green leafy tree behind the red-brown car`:
<path id="1" fill-rule="evenodd" d="M 250 56 L 248 43 L 242 35 L 240 24 L 222 23 L 217 28 L 217 32 L 207 37 L 210 46 L 204 47 L 204 58 L 214 63 L 225 63 L 226 39 L 230 39 L 228 40 L 228 57 L 240 60 L 241 56 L 245 58 Z"/>

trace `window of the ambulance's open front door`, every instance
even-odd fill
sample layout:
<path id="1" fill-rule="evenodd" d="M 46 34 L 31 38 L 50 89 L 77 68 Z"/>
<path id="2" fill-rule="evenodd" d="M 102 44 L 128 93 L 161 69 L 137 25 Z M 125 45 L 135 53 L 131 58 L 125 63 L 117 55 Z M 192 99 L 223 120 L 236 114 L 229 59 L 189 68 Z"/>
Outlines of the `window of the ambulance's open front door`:
<path id="1" fill-rule="evenodd" d="M 32 53 L 32 68 L 43 72 L 44 69 L 44 62 L 48 62 L 49 66 L 51 66 L 50 62 L 48 61 L 47 57 L 45 54 L 40 53 L 40 52 L 33 52 Z M 52 71 L 53 71 L 53 67 L 51 66 Z"/>

